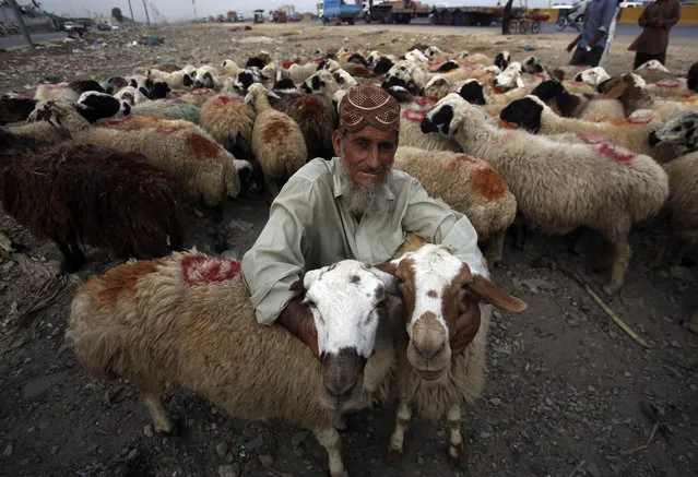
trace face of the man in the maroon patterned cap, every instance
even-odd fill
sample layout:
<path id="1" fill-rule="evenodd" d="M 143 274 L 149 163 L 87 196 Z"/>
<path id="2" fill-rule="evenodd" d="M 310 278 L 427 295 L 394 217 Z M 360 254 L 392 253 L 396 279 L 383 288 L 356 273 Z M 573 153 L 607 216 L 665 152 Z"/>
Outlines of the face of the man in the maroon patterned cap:
<path id="1" fill-rule="evenodd" d="M 345 132 L 342 138 L 340 131 L 334 131 L 332 144 L 334 154 L 346 160 L 352 180 L 363 188 L 372 188 L 390 172 L 398 150 L 398 132 L 368 126 L 358 132 Z"/>

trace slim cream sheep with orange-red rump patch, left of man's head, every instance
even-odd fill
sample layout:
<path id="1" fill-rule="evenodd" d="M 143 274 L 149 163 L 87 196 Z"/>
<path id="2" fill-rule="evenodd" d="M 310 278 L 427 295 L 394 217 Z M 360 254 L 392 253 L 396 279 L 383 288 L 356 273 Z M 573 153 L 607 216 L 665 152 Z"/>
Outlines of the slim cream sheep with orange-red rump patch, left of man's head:
<path id="1" fill-rule="evenodd" d="M 269 92 L 255 83 L 249 87 L 246 103 L 252 103 L 257 118 L 252 129 L 252 152 L 264 171 L 272 196 L 308 159 L 308 150 L 298 124 L 285 112 L 271 107 Z"/>

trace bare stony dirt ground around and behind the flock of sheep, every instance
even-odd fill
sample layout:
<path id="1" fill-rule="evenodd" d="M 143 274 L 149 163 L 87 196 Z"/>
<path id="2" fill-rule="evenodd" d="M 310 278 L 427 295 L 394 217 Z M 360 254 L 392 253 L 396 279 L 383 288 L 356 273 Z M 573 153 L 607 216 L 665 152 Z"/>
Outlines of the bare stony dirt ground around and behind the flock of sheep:
<path id="1" fill-rule="evenodd" d="M 0 91 L 22 91 L 46 76 L 106 79 L 133 67 L 242 60 L 259 49 L 274 55 L 311 53 L 346 45 L 397 52 L 415 44 L 447 50 L 514 58 L 537 46 L 548 63 L 569 58 L 569 35 L 501 37 L 490 32 L 453 34 L 452 28 L 322 27 L 308 25 L 165 27 L 158 46 L 126 45 L 129 32 L 97 36 L 96 49 L 72 43 L 0 52 Z M 627 70 L 631 57 L 618 40 L 610 70 Z M 627 39 L 626 44 L 631 41 Z M 91 41 L 92 44 L 92 41 Z M 627 47 L 627 45 L 626 45 Z M 690 51 L 689 51 L 690 49 Z M 685 70 L 695 45 L 670 48 L 670 62 Z M 229 255 L 240 258 L 268 217 L 264 199 L 226 204 Z M 212 252 L 205 218 L 189 214 L 188 246 Z M 185 391 L 166 406 L 184 424 L 180 436 L 153 434 L 145 409 L 125 382 L 86 377 L 63 332 L 76 285 L 115 265 L 90 250 L 87 266 L 56 277 L 58 249 L 37 241 L 5 215 L 0 230 L 27 247 L 0 251 L 0 475 L 2 476 L 324 476 L 327 457 L 308 432 L 282 422 L 230 419 Z M 415 418 L 405 455 L 388 464 L 394 406 L 348 419 L 343 456 L 352 476 L 627 476 L 698 475 L 698 336 L 683 323 L 698 309 L 696 269 L 650 270 L 662 237 L 655 222 L 631 235 L 634 257 L 623 293 L 601 291 L 605 275 L 587 273 L 585 257 L 561 237 L 534 235 L 524 251 L 507 241 L 494 279 L 522 297 L 522 315 L 496 314 L 488 339 L 487 385 L 483 398 L 463 414 L 469 445 L 466 468 L 451 467 L 445 421 Z M 648 344 L 644 349 L 622 331 L 572 270 Z M 240 390 L 245 392 L 245 390 Z"/>

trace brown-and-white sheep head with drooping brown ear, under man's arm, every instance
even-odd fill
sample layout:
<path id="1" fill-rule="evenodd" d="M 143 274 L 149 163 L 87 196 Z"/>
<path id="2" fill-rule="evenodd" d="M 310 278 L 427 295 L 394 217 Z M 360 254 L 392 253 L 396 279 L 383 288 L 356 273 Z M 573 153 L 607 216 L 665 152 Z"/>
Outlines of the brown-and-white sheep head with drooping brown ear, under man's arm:
<path id="1" fill-rule="evenodd" d="M 486 276 L 473 273 L 443 246 L 427 243 L 378 266 L 398 278 L 410 336 L 407 360 L 428 381 L 438 380 L 450 370 L 449 330 L 454 327 L 466 288 L 506 312 L 522 312 L 528 308 Z M 486 271 L 484 264 L 482 270 Z"/>

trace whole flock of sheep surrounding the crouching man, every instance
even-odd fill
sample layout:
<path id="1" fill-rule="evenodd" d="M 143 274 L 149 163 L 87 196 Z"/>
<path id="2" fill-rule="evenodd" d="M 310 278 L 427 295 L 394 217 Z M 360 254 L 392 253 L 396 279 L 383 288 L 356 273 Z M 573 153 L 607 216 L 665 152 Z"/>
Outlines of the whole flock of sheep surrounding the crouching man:
<path id="1" fill-rule="evenodd" d="M 487 270 L 412 236 L 389 262 L 346 260 L 297 284 L 318 361 L 283 329 L 257 324 L 237 262 L 181 251 L 185 207 L 203 205 L 217 224 L 229 198 L 274 196 L 306 162 L 334 155 L 339 100 L 374 82 L 402 106 L 393 167 L 470 217 L 489 267 L 506 260 L 514 224 L 558 235 L 587 227 L 613 248 L 605 290 L 616 293 L 634 224 L 659 216 L 676 242 L 698 241 L 697 81 L 698 64 L 684 76 L 649 62 L 611 77 L 437 47 L 140 68 L 3 96 L 0 198 L 57 243 L 64 272 L 84 264 L 81 243 L 142 259 L 80 287 L 67 337 L 91 375 L 137 386 L 156 430 L 173 430 L 162 395 L 182 385 L 233 416 L 312 429 L 339 477 L 342 416 L 399 398 L 390 458 L 402 455 L 416 410 L 448 418 L 448 452 L 463 464 L 460 409 L 482 390 L 492 306 L 521 312 L 524 302 Z M 482 299 L 481 332 L 451 357 L 465 286 Z"/>

